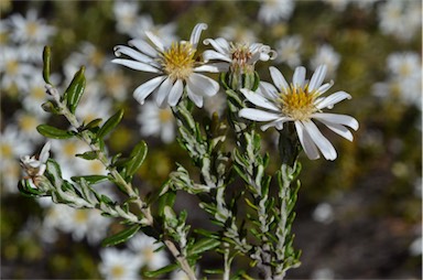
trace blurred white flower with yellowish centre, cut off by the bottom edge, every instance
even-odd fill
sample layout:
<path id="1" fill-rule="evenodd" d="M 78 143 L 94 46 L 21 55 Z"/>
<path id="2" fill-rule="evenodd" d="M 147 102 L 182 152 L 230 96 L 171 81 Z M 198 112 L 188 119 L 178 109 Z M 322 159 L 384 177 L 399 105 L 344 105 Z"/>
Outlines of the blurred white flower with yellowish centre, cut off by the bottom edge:
<path id="1" fill-rule="evenodd" d="M 141 263 L 130 251 L 106 248 L 100 250 L 100 257 L 98 270 L 106 280 L 141 279 Z"/>

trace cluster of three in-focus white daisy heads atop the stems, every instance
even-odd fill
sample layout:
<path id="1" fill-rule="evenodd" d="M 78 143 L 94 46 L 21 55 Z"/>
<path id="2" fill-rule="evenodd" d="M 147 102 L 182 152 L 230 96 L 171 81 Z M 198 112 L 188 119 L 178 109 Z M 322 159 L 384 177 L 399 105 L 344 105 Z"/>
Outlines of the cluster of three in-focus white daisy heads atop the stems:
<path id="1" fill-rule="evenodd" d="M 223 37 L 206 39 L 204 43 L 210 44 L 215 50 L 206 50 L 203 53 L 203 63 L 198 65 L 194 55 L 200 32 L 206 28 L 204 23 L 197 24 L 189 42 L 181 41 L 165 45 L 159 37 L 145 32 L 154 47 L 143 40 L 129 42 L 137 50 L 123 45 L 115 47 L 117 56 L 124 54 L 132 60 L 116 58 L 112 62 L 138 71 L 162 74 L 134 90 L 134 98 L 141 105 L 155 90 L 155 100 L 160 107 L 166 104 L 171 107 L 176 106 L 184 93 L 198 107 L 202 107 L 203 97 L 214 96 L 218 85 L 196 72 L 229 72 L 231 77 L 236 77 L 236 83 L 231 80 L 230 85 L 239 89 L 242 86 L 239 83 L 241 76 L 253 75 L 257 62 L 267 62 L 276 57 L 275 51 L 261 43 L 229 43 Z M 269 127 L 281 130 L 284 122 L 293 121 L 299 140 L 310 159 L 318 159 L 318 151 L 321 151 L 325 159 L 335 160 L 337 158 L 335 148 L 321 133 L 312 119 L 321 121 L 334 132 L 352 141 L 352 134 L 347 127 L 358 129 L 358 121 L 355 118 L 322 111 L 325 108 L 332 109 L 335 104 L 350 99 L 351 96 L 345 91 L 323 96 L 334 84 L 333 82 L 323 84 L 327 72 L 326 65 L 317 66 L 310 82 L 305 79 L 305 68 L 296 67 L 291 84 L 286 83 L 278 68 L 271 66 L 269 71 L 274 86 L 260 82 L 256 93 L 249 88 L 240 88 L 247 100 L 258 108 L 243 108 L 239 111 L 239 116 L 254 121 L 270 121 L 262 126 L 263 130 Z"/>

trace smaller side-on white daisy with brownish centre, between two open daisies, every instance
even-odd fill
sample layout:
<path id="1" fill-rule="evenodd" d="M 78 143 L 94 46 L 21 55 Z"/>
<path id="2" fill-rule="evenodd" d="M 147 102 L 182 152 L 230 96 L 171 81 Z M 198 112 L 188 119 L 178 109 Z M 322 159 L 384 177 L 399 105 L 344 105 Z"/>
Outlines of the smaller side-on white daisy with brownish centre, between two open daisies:
<path id="1" fill-rule="evenodd" d="M 216 72 L 249 73 L 254 69 L 258 61 L 267 62 L 276 57 L 276 52 L 261 43 L 229 43 L 224 37 L 206 39 L 204 44 L 210 44 L 215 50 L 203 53 L 205 62 L 219 61 L 209 65 Z"/>

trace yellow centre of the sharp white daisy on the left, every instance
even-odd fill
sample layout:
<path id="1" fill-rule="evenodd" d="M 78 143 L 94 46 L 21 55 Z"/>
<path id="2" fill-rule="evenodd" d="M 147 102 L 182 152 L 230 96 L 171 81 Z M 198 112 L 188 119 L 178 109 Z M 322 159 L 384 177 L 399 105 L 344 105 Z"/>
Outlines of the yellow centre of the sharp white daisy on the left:
<path id="1" fill-rule="evenodd" d="M 162 54 L 161 64 L 173 80 L 187 79 L 194 71 L 195 49 L 187 42 L 173 43 L 172 46 Z"/>

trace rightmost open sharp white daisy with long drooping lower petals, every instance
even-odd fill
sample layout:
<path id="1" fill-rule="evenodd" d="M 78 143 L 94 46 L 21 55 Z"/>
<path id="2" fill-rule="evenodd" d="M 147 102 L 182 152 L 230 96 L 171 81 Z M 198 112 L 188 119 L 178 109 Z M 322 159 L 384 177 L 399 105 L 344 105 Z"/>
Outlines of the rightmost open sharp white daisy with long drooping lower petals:
<path id="1" fill-rule="evenodd" d="M 243 108 L 239 116 L 256 120 L 269 121 L 261 127 L 283 129 L 283 125 L 293 121 L 304 152 L 311 160 L 319 158 L 319 151 L 327 160 L 335 160 L 337 154 L 333 144 L 322 134 L 314 121 L 323 122 L 327 128 L 339 136 L 352 141 L 352 133 L 346 128 L 358 129 L 355 118 L 346 115 L 322 112 L 322 109 L 332 109 L 335 104 L 349 99 L 351 96 L 345 91 L 337 91 L 327 97 L 322 95 L 333 85 L 333 82 L 322 85 L 325 78 L 326 66 L 317 67 L 310 83 L 305 80 L 305 68 L 296 67 L 292 84 L 289 85 L 279 69 L 270 67 L 270 75 L 275 87 L 265 82 L 260 83 L 257 93 L 241 89 L 246 98 L 259 108 Z"/>

